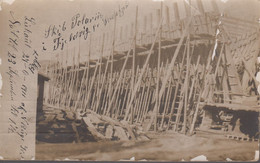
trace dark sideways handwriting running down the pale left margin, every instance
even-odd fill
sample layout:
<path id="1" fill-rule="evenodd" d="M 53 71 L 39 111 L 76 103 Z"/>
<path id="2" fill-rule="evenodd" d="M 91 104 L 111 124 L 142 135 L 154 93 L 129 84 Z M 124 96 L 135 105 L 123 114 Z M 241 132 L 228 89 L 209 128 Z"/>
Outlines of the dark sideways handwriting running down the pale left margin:
<path id="1" fill-rule="evenodd" d="M 27 91 L 30 75 L 35 74 L 41 67 L 38 62 L 39 54 L 32 48 L 32 27 L 36 25 L 33 17 L 24 16 L 17 19 L 13 11 L 9 19 L 8 39 L 8 74 L 10 100 L 10 117 L 8 117 L 8 133 L 15 134 L 20 140 L 19 155 L 25 158 L 28 146 L 25 140 L 28 136 Z"/>

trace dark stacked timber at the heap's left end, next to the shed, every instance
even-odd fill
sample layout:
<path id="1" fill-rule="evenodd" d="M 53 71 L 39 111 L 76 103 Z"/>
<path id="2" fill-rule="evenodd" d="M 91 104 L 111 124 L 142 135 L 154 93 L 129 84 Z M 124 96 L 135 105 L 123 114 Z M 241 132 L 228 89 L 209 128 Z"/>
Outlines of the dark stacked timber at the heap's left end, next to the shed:
<path id="1" fill-rule="evenodd" d="M 37 118 L 37 140 L 51 143 L 80 142 L 94 138 L 86 129 L 82 137 L 79 136 L 80 122 L 76 121 L 76 114 L 73 112 L 44 106 L 44 112 Z"/>

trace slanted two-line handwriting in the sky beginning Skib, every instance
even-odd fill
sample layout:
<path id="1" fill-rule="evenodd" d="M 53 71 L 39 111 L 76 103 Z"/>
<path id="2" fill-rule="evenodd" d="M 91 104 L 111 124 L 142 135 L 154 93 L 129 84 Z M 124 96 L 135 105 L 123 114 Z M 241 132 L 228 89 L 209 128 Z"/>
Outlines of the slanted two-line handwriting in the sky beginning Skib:
<path id="1" fill-rule="evenodd" d="M 71 17 L 71 21 L 63 21 L 59 25 L 49 25 L 45 30 L 45 39 L 52 38 L 52 51 L 63 50 L 65 44 L 75 41 L 78 38 L 87 40 L 89 33 L 95 32 L 101 26 L 106 26 L 116 17 L 122 17 L 128 8 L 128 1 L 123 6 L 109 16 L 104 16 L 101 12 L 96 12 L 93 16 L 77 13 Z M 69 33 L 69 35 L 65 35 Z M 42 42 L 43 50 L 47 50 L 45 42 Z"/>

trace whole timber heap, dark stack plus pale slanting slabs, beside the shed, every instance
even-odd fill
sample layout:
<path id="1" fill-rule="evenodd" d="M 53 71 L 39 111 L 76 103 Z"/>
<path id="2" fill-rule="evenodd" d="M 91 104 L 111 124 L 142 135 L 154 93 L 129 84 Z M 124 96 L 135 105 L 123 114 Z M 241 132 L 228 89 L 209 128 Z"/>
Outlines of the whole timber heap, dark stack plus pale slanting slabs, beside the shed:
<path id="1" fill-rule="evenodd" d="M 39 141 L 83 142 L 100 140 L 149 140 L 141 127 L 130 126 L 124 121 L 115 121 L 100 116 L 91 110 L 84 114 L 45 107 L 37 123 Z M 60 137 L 62 137 L 60 139 Z"/>

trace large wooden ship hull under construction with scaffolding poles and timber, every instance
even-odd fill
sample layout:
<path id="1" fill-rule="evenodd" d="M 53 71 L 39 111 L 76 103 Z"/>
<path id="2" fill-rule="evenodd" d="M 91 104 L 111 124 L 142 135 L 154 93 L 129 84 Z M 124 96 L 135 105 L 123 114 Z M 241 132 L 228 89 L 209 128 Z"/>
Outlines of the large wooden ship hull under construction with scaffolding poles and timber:
<path id="1" fill-rule="evenodd" d="M 59 55 L 43 70 L 50 80 L 45 82 L 43 109 L 38 109 L 44 112 L 38 116 L 38 129 L 47 124 L 60 129 L 62 124 L 54 122 L 71 121 L 70 140 L 76 141 L 84 141 L 85 132 L 90 141 L 145 140 L 150 131 L 257 139 L 259 24 L 220 14 L 214 1 L 213 12 L 205 12 L 200 0 L 196 3 L 194 15 L 184 3 L 184 19 L 173 3 L 174 21 L 170 7 L 163 6 L 156 13 L 156 28 L 148 27 L 152 15 L 138 22 L 137 7 L 130 37 L 123 28 L 116 37 L 115 19 L 113 36 L 104 33 L 99 41 L 98 59 L 91 59 L 93 38 L 86 61 L 72 53 L 69 65 L 68 54 Z M 242 32 L 233 30 L 238 25 Z M 241 131 L 242 123 L 256 129 Z M 57 132 L 63 135 L 65 130 Z"/>

